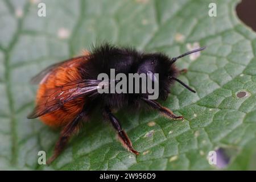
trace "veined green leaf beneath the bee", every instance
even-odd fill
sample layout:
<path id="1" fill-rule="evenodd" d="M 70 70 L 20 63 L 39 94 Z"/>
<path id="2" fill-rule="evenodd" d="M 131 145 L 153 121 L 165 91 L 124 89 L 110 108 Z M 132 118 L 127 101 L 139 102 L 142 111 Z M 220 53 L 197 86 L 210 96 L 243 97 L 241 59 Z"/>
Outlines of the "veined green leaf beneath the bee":
<path id="1" fill-rule="evenodd" d="M 256 169 L 256 36 L 238 20 L 237 1 L 0 1 L 0 168 L 1 169 L 217 169 L 208 152 L 229 150 L 225 169 Z M 209 3 L 217 17 L 208 15 Z M 171 88 L 164 106 L 182 114 L 171 121 L 156 112 L 119 111 L 135 156 L 115 138 L 100 114 L 85 123 L 51 166 L 38 164 L 38 151 L 52 154 L 59 131 L 28 120 L 36 86 L 29 80 L 47 65 L 79 55 L 93 43 L 109 41 L 147 52 L 177 56 L 194 43 L 207 46 Z M 246 91 L 238 98 L 237 93 Z M 150 133 L 150 134 L 148 134 Z"/>

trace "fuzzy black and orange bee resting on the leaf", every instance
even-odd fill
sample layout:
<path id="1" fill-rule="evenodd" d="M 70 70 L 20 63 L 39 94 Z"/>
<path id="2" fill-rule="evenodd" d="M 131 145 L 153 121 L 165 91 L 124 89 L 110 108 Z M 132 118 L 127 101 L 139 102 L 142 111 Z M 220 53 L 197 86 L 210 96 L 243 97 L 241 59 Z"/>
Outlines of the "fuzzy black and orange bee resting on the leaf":
<path id="1" fill-rule="evenodd" d="M 60 137 L 55 144 L 53 155 L 47 160 L 50 164 L 60 155 L 69 139 L 76 133 L 83 122 L 88 121 L 96 107 L 102 117 L 112 123 L 117 131 L 123 147 L 138 155 L 131 140 L 122 129 L 113 110 L 119 109 L 155 109 L 165 117 L 183 119 L 175 115 L 170 109 L 160 105 L 157 100 L 149 100 L 149 93 L 98 93 L 100 73 L 110 75 L 110 69 L 115 73 L 158 73 L 159 98 L 166 100 L 170 87 L 175 81 L 195 93 L 177 76 L 187 69 L 178 70 L 175 61 L 205 47 L 170 58 L 163 53 L 144 53 L 129 47 L 116 47 L 108 43 L 94 47 L 84 55 L 53 64 L 32 78 L 32 82 L 39 83 L 36 94 L 36 106 L 27 118 L 38 118 L 48 126 L 60 127 Z M 152 80 L 154 81 L 154 80 Z M 127 85 L 129 87 L 129 85 Z"/>

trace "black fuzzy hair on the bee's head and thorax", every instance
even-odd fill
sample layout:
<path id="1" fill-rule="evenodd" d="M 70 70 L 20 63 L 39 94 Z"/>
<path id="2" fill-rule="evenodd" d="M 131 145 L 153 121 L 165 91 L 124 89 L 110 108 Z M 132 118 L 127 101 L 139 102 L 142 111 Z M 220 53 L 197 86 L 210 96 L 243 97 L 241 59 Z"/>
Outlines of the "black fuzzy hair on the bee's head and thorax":
<path id="1" fill-rule="evenodd" d="M 152 64 L 154 62 L 154 64 Z M 89 59 L 84 65 L 83 78 L 97 79 L 100 73 L 106 73 L 110 77 L 110 69 L 115 69 L 115 74 L 140 73 L 143 69 L 150 69 L 159 73 L 159 99 L 166 100 L 170 93 L 173 80 L 170 76 L 177 76 L 177 69 L 171 60 L 163 53 L 142 53 L 131 47 L 115 47 L 109 43 L 94 47 L 90 52 Z M 127 85 L 128 89 L 128 85 Z M 98 94 L 96 100 L 101 105 L 107 105 L 119 109 L 131 104 L 138 106 L 141 94 Z M 144 95 L 143 95 L 144 96 Z"/>

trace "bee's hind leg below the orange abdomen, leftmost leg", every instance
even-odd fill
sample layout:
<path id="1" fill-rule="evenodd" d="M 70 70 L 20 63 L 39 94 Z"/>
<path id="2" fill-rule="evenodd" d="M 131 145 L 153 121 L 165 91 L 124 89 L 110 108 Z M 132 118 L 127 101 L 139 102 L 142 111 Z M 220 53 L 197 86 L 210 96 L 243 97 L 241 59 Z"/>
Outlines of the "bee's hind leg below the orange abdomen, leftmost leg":
<path id="1" fill-rule="evenodd" d="M 60 155 L 60 153 L 64 150 L 65 146 L 67 145 L 72 135 L 79 131 L 81 118 L 83 118 L 84 116 L 85 116 L 84 113 L 80 113 L 79 115 L 77 115 L 75 119 L 73 119 L 72 122 L 68 123 L 68 125 L 65 126 L 63 130 L 61 130 L 60 138 L 59 140 L 57 140 L 53 155 L 51 156 L 51 158 L 47 160 L 47 164 L 51 164 L 53 160 L 55 160 L 57 156 Z"/>

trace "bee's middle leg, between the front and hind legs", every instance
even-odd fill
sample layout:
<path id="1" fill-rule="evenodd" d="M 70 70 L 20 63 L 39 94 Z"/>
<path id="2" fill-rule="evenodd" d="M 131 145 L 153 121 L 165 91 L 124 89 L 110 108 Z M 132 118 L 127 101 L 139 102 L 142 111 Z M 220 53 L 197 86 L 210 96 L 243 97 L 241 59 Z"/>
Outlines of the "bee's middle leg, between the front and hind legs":
<path id="1" fill-rule="evenodd" d="M 127 150 L 133 152 L 134 154 L 139 155 L 139 152 L 134 150 L 131 140 L 129 139 L 125 131 L 123 131 L 118 119 L 111 113 L 108 107 L 105 108 L 104 117 L 109 119 L 109 121 L 114 126 L 114 129 L 118 131 L 118 138 L 123 144 L 123 147 L 127 148 Z"/>

